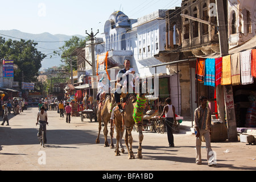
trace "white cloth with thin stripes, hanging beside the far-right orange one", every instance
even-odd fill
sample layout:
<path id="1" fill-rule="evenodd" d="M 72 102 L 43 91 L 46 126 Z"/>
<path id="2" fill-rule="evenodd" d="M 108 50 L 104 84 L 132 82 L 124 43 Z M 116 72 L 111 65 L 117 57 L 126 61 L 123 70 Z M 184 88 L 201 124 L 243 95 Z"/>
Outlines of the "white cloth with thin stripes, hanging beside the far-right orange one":
<path id="1" fill-rule="evenodd" d="M 253 84 L 251 76 L 251 50 L 240 53 L 242 85 Z"/>

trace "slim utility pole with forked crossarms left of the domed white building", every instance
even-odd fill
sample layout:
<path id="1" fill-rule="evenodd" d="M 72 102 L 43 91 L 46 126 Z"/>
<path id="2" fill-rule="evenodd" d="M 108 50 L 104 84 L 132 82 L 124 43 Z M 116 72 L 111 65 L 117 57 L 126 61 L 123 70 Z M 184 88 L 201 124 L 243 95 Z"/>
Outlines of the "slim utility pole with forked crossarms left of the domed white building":
<path id="1" fill-rule="evenodd" d="M 94 43 L 94 37 L 96 37 L 98 32 L 94 35 L 93 31 L 90 34 L 88 34 L 87 31 L 85 31 L 85 33 L 90 36 L 90 45 L 91 45 L 91 48 L 92 48 L 92 73 L 93 73 L 93 80 L 96 80 L 96 77 L 97 77 L 97 75 L 96 75 L 96 64 L 95 64 L 95 48 L 94 48 L 95 43 Z M 92 84 L 93 84 L 93 82 L 92 82 Z M 98 121 L 97 113 L 96 113 L 96 107 L 97 107 L 96 96 L 97 96 L 97 87 L 96 88 L 93 87 L 93 108 L 94 108 L 94 121 L 95 122 Z"/>

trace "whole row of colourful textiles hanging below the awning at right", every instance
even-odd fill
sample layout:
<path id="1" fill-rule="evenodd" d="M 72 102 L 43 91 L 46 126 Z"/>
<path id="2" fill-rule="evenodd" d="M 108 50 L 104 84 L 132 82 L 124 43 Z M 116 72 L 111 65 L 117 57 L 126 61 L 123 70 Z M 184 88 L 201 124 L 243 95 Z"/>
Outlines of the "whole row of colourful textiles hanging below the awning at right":
<path id="1" fill-rule="evenodd" d="M 253 84 L 253 77 L 256 77 L 256 49 L 196 61 L 196 80 L 204 81 L 204 85 L 247 85 Z"/>

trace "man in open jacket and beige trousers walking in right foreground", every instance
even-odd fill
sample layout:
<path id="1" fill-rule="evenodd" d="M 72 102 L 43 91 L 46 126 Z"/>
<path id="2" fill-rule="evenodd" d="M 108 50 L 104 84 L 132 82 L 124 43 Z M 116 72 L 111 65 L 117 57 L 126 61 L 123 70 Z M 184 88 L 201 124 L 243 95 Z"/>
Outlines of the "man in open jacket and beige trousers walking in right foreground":
<path id="1" fill-rule="evenodd" d="M 201 164 L 201 137 L 204 136 L 208 166 L 215 166 L 214 153 L 210 146 L 210 125 L 211 125 L 211 113 L 209 107 L 207 107 L 207 97 L 200 97 L 200 106 L 195 110 L 195 129 L 196 129 L 196 164 Z M 213 157 L 212 157 L 213 156 Z"/>

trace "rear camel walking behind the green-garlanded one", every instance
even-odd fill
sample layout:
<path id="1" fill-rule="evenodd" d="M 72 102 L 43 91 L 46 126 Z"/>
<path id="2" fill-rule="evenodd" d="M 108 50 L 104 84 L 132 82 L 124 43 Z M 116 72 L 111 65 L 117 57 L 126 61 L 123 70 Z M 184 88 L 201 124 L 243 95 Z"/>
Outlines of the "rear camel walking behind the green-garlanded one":
<path id="1" fill-rule="evenodd" d="M 115 105 L 115 99 L 114 95 L 111 94 L 109 96 L 106 96 L 105 100 L 102 101 L 103 107 L 98 107 L 97 109 L 97 115 L 98 115 L 98 137 L 96 139 L 96 143 L 100 143 L 100 132 L 101 132 L 101 122 L 104 123 L 104 137 L 105 137 L 105 146 L 109 147 L 108 142 L 108 122 L 110 121 L 111 113 L 113 110 L 113 107 Z M 111 148 L 114 148 L 113 144 L 113 137 L 110 135 L 110 146 Z"/>

